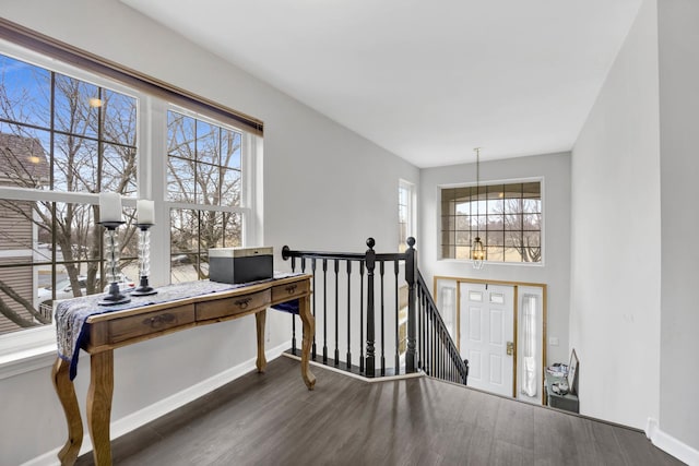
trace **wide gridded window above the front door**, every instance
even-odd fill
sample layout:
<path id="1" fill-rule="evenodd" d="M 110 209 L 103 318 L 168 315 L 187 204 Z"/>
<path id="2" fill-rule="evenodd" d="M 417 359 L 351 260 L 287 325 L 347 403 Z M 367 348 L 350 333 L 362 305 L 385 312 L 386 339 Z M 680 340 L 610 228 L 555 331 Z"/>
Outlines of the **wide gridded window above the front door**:
<path id="1" fill-rule="evenodd" d="M 541 181 L 441 190 L 441 256 L 470 259 L 476 237 L 488 262 L 542 262 Z"/>

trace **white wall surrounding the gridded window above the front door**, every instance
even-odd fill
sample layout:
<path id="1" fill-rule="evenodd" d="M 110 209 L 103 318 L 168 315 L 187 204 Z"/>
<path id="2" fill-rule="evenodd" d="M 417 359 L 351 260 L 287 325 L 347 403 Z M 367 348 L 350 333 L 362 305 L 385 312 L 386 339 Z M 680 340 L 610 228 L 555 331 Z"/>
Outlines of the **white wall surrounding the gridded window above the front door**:
<path id="1" fill-rule="evenodd" d="M 475 164 L 426 168 L 420 171 L 420 230 L 416 248 L 425 280 L 435 276 L 529 282 L 548 285 L 548 336 L 558 337 L 548 346 L 547 360 L 568 361 L 569 249 L 570 249 L 570 154 L 549 154 L 503 160 L 482 162 L 481 180 L 543 178 L 544 264 L 487 264 L 476 271 L 463 261 L 439 260 L 439 187 L 474 183 Z"/>

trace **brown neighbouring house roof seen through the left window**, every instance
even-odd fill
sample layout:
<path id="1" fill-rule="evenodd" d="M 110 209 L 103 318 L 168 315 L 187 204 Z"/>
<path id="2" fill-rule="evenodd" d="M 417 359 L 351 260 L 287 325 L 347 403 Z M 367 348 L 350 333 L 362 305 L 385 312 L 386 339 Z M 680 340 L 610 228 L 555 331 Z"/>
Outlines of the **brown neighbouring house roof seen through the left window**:
<path id="1" fill-rule="evenodd" d="M 36 138 L 0 133 L 0 179 L 36 187 L 49 179 L 46 151 Z"/>

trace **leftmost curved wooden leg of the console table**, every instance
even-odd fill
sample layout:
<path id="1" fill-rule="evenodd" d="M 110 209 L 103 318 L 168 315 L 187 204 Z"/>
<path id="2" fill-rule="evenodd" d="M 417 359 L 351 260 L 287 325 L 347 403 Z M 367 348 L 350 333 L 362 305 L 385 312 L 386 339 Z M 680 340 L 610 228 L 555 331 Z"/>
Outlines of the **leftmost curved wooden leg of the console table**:
<path id="1" fill-rule="evenodd" d="M 83 420 L 80 417 L 80 406 L 75 396 L 75 387 L 70 380 L 70 362 L 56 358 L 54 369 L 51 370 L 51 379 L 54 380 L 54 389 L 63 406 L 66 414 L 66 422 L 68 423 L 68 441 L 66 445 L 58 452 L 58 458 L 61 465 L 73 465 L 80 453 L 80 445 L 83 443 Z"/>

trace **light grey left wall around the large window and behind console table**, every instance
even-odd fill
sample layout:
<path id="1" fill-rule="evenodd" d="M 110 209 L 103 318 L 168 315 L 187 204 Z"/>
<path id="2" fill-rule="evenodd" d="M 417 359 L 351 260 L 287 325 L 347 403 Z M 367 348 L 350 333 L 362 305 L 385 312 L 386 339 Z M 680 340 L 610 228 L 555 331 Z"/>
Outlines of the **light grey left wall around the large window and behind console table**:
<path id="1" fill-rule="evenodd" d="M 117 0 L 26 0 L 2 9 L 10 21 L 263 120 L 263 242 L 275 248 L 275 267 L 287 266 L 283 244 L 363 251 L 374 236 L 378 250 L 394 251 L 399 179 L 417 186 L 417 168 Z M 289 340 L 288 315 L 271 312 L 268 324 L 268 347 Z M 244 318 L 117 350 L 112 421 L 250 360 L 253 335 L 254 320 Z M 83 354 L 81 403 L 87 380 Z M 64 442 L 50 368 L 0 380 L 0 464 L 20 464 Z"/>

